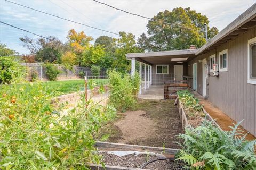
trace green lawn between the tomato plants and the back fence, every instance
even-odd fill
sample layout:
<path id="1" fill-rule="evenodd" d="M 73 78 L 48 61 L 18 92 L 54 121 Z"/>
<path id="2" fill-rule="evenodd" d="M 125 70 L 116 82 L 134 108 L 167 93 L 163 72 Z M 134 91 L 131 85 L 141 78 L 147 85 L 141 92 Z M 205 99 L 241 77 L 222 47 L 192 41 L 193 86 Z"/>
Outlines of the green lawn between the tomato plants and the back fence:
<path id="1" fill-rule="evenodd" d="M 101 83 L 107 84 L 108 79 L 93 79 L 93 86 L 99 86 Z M 37 82 L 35 82 L 37 83 Z M 72 92 L 84 90 L 84 79 L 65 80 L 65 81 L 46 81 L 42 82 L 43 86 L 53 89 L 56 95 L 70 94 Z M 10 86 L 10 85 L 7 85 Z M 18 84 L 19 86 L 19 84 Z M 87 86 L 89 88 L 89 86 Z"/>

